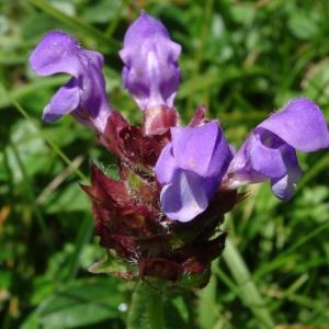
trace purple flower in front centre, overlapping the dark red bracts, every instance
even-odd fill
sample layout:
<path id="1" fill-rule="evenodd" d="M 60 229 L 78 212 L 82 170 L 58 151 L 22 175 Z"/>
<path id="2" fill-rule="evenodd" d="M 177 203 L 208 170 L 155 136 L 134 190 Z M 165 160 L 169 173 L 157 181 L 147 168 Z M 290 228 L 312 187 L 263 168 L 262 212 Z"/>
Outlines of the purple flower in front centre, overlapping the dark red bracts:
<path id="1" fill-rule="evenodd" d="M 174 127 L 171 136 L 155 168 L 163 185 L 161 208 L 170 219 L 189 222 L 204 212 L 216 194 L 231 151 L 216 122 Z"/>

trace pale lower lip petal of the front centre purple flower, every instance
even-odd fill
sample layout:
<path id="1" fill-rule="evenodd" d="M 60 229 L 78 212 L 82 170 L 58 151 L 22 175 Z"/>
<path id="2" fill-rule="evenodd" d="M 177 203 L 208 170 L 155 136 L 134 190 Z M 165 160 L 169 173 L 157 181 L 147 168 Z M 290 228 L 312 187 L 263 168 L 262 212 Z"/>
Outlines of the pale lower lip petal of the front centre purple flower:
<path id="1" fill-rule="evenodd" d="M 160 195 L 162 212 L 173 220 L 190 222 L 208 205 L 204 180 L 188 171 L 179 171 Z"/>

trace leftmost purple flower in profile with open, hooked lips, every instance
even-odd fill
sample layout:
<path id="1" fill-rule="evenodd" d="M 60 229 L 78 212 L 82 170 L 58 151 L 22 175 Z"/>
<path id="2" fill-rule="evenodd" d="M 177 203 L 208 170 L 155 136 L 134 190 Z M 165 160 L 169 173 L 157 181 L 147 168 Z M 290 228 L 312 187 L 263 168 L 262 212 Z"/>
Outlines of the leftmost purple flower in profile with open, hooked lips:
<path id="1" fill-rule="evenodd" d="M 72 36 L 52 31 L 30 57 L 31 68 L 39 76 L 68 73 L 72 78 L 61 87 L 44 110 L 47 122 L 70 113 L 81 123 L 103 132 L 111 107 L 102 75 L 103 56 L 80 47 Z"/>

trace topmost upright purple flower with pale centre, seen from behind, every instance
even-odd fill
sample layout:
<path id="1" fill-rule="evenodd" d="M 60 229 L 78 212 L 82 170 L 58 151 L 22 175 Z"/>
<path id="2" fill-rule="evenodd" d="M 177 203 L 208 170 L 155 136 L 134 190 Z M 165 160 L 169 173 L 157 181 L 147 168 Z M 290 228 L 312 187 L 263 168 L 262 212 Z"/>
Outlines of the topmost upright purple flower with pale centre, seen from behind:
<path id="1" fill-rule="evenodd" d="M 167 29 L 145 12 L 131 25 L 120 56 L 125 65 L 124 87 L 141 110 L 172 107 L 180 83 L 180 53 Z"/>

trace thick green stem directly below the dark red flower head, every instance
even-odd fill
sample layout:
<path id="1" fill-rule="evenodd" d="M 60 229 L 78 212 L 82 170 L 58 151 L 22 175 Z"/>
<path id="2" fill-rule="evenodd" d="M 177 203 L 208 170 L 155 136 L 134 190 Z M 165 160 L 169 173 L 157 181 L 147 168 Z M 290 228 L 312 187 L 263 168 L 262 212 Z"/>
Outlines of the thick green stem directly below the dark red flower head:
<path id="1" fill-rule="evenodd" d="M 146 282 L 139 282 L 133 295 L 128 329 L 164 329 L 163 297 Z"/>

